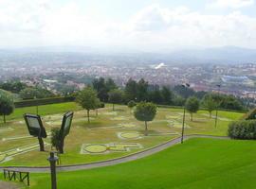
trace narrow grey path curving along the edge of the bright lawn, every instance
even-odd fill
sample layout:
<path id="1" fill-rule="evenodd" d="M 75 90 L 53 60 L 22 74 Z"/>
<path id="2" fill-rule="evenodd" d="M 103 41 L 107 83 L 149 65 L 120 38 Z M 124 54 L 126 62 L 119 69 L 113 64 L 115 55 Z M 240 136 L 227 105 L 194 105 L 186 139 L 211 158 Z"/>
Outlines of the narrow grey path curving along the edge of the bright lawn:
<path id="1" fill-rule="evenodd" d="M 184 136 L 184 140 L 188 140 L 190 138 L 211 138 L 211 139 L 229 139 L 229 137 L 226 136 L 211 136 L 211 135 L 199 135 L 199 134 L 192 134 L 192 135 L 186 135 Z M 83 169 L 91 169 L 101 166 L 109 166 L 119 163 L 126 163 L 130 161 L 134 161 L 146 156 L 150 156 L 152 154 L 155 154 L 159 151 L 162 151 L 170 146 L 174 146 L 176 144 L 179 144 L 181 140 L 181 137 L 175 138 L 171 141 L 168 141 L 164 144 L 139 151 L 137 153 L 120 157 L 117 159 L 102 161 L 102 162 L 96 162 L 96 163 L 83 163 L 83 164 L 72 164 L 72 165 L 61 165 L 57 167 L 57 171 L 75 171 L 75 170 L 83 170 Z M 24 172 L 32 172 L 32 173 L 44 173 L 49 172 L 48 166 L 0 166 L 0 170 L 2 169 L 10 169 L 10 170 L 16 170 L 16 171 L 24 171 Z"/>

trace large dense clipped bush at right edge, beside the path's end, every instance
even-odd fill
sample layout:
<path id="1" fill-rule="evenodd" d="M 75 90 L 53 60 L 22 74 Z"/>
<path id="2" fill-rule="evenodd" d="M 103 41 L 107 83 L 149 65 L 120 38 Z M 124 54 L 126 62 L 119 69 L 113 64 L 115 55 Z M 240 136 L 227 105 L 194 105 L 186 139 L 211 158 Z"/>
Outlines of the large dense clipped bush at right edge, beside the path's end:
<path id="1" fill-rule="evenodd" d="M 256 139 L 256 120 L 236 121 L 229 124 L 229 137 L 232 139 Z"/>

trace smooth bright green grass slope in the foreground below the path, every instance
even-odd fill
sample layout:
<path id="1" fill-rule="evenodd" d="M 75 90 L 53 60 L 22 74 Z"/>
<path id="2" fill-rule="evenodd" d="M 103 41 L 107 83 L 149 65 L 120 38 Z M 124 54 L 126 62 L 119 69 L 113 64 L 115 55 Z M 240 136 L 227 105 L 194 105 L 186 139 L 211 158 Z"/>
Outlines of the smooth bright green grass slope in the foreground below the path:
<path id="1" fill-rule="evenodd" d="M 58 173 L 62 189 L 256 188 L 256 142 L 191 139 L 150 157 L 91 170 Z M 31 189 L 50 187 L 49 174 L 32 174 Z"/>

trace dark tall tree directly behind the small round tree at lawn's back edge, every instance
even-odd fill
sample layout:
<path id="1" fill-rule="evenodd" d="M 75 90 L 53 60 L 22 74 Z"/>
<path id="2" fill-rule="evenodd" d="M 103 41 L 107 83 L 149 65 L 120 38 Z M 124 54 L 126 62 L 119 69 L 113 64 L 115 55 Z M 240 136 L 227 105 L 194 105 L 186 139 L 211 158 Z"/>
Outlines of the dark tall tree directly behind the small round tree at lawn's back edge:
<path id="1" fill-rule="evenodd" d="M 137 82 L 130 78 L 124 88 L 126 102 L 137 99 Z"/>

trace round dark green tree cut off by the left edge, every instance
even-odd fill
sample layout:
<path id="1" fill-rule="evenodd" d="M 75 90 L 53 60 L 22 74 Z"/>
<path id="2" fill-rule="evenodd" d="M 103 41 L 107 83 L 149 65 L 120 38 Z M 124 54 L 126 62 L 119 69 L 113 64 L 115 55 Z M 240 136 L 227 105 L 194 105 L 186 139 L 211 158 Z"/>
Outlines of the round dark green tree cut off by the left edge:
<path id="1" fill-rule="evenodd" d="M 13 100 L 5 94 L 1 94 L 0 96 L 0 115 L 4 116 L 4 123 L 6 121 L 6 115 L 9 115 L 14 111 L 14 103 Z"/>

